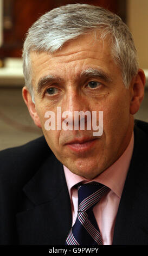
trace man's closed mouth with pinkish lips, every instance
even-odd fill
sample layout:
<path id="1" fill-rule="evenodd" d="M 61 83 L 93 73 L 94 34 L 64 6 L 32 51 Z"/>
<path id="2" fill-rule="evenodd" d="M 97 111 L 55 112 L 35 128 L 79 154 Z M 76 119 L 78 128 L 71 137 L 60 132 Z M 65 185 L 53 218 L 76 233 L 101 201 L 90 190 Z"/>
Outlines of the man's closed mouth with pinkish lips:
<path id="1" fill-rule="evenodd" d="M 96 139 L 97 138 L 74 139 L 73 141 L 66 143 L 66 145 L 75 153 L 86 153 L 94 147 Z"/>

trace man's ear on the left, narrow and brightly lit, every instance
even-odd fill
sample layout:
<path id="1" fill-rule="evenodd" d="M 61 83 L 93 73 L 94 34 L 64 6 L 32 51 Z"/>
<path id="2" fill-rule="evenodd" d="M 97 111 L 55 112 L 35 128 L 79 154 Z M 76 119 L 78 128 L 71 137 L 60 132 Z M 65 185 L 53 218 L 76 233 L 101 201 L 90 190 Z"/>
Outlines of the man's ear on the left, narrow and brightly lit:
<path id="1" fill-rule="evenodd" d="M 37 127 L 41 128 L 40 118 L 38 117 L 38 114 L 36 112 L 35 103 L 32 101 L 31 95 L 27 89 L 27 87 L 23 87 L 22 89 L 22 95 L 25 104 L 28 107 L 29 113 L 31 115 L 31 118 L 33 118 L 34 123 Z"/>

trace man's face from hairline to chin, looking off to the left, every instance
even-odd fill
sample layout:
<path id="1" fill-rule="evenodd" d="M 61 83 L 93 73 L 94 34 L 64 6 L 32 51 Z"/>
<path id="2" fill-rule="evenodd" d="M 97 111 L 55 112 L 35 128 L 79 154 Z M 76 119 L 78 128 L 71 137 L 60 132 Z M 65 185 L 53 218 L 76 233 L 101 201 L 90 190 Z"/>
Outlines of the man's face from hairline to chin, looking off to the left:
<path id="1" fill-rule="evenodd" d="M 99 175 L 123 154 L 133 130 L 131 90 L 123 84 L 108 40 L 92 38 L 91 34 L 82 35 L 53 54 L 31 52 L 35 106 L 46 141 L 61 163 L 87 179 Z M 99 72 L 92 75 L 86 70 Z M 47 76 L 52 79 L 42 83 Z M 47 131 L 44 114 L 53 111 L 56 115 L 57 107 L 72 113 L 103 111 L 102 136 L 93 137 L 93 131 L 80 129 Z"/>

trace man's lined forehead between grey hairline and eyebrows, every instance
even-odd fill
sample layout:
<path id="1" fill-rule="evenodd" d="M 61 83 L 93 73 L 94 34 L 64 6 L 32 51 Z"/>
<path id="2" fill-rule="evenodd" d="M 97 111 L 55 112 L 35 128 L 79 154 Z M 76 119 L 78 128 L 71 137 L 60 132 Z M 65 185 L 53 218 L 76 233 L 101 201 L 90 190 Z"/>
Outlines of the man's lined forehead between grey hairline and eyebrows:
<path id="1" fill-rule="evenodd" d="M 31 52 L 31 65 L 33 79 L 39 80 L 47 75 L 79 75 L 87 68 L 101 68 L 110 75 L 113 72 L 114 63 L 111 45 L 108 38 L 104 40 L 96 38 L 95 34 L 81 35 L 76 39 L 69 40 L 60 50 L 54 53 Z"/>

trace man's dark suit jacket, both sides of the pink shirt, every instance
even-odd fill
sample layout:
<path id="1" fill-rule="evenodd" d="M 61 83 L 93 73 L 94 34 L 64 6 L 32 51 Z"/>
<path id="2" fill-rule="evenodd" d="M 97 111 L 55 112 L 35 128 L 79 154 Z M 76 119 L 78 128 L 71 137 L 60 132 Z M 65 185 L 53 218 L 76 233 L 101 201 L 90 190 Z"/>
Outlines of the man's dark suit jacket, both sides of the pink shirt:
<path id="1" fill-rule="evenodd" d="M 148 124 L 137 121 L 134 151 L 113 245 L 148 244 Z M 0 244 L 64 245 L 72 225 L 62 164 L 44 137 L 0 153 Z"/>

